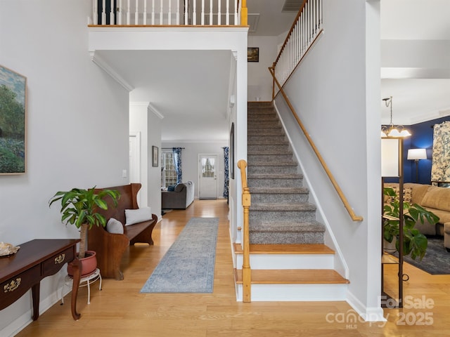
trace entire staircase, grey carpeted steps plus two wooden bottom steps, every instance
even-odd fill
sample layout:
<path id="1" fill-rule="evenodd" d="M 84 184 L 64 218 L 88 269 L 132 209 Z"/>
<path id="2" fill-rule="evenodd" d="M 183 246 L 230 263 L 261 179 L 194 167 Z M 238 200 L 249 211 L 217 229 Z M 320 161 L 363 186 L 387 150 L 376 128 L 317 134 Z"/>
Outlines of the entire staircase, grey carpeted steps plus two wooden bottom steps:
<path id="1" fill-rule="evenodd" d="M 252 301 L 345 300 L 349 281 L 302 186 L 288 138 L 270 102 L 248 103 L 248 187 Z M 243 251 L 235 252 L 236 298 L 243 300 Z"/>

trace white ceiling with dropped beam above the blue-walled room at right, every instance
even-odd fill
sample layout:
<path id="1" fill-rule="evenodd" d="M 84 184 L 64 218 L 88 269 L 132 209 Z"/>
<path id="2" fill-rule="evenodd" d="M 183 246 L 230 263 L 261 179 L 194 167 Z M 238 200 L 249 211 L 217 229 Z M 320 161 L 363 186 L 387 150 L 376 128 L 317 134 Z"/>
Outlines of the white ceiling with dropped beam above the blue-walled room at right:
<path id="1" fill-rule="evenodd" d="M 390 108 L 382 98 L 390 96 L 394 124 L 410 125 L 450 115 L 449 18 L 448 0 L 381 0 L 383 124 L 390 122 Z M 403 40 L 406 44 L 401 46 L 411 48 L 410 55 L 396 58 L 393 54 L 399 51 L 383 49 L 383 40 Z M 428 46 L 432 48 L 425 48 Z"/>

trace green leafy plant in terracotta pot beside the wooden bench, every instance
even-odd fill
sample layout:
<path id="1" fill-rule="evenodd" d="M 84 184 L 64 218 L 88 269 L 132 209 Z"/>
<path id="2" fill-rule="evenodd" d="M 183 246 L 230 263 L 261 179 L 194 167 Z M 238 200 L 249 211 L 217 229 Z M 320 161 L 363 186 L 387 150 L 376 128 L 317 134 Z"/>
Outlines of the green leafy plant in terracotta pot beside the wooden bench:
<path id="1" fill-rule="evenodd" d="M 93 251 L 86 251 L 87 232 L 93 225 L 106 225 L 105 217 L 96 212 L 96 209 L 108 209 L 108 204 L 104 200 L 109 196 L 113 199 L 114 206 L 117 206 L 117 200 L 120 198 L 120 193 L 117 190 L 101 190 L 96 193 L 95 186 L 89 190 L 80 188 L 72 188 L 70 191 L 56 192 L 49 201 L 49 206 L 53 202 L 61 201 L 61 221 L 65 225 L 71 224 L 79 228 L 79 253 L 78 257 L 82 260 L 82 275 L 87 275 L 96 269 L 96 253 Z M 94 256 L 94 258 L 92 258 Z M 90 257 L 94 261 L 89 263 L 89 267 L 85 263 L 86 258 Z M 68 266 L 68 273 L 72 275 L 72 268 Z"/>

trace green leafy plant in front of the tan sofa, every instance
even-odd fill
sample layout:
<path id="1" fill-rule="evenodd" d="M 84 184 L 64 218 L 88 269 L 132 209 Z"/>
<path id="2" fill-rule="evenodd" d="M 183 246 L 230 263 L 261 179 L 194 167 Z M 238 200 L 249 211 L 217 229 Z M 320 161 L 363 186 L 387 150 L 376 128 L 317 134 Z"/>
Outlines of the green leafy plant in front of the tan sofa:
<path id="1" fill-rule="evenodd" d="M 392 187 L 385 187 L 383 193 L 390 197 L 390 201 L 383 207 L 383 239 L 393 242 L 400 233 L 400 202 Z M 427 220 L 431 225 L 439 221 L 439 217 L 418 204 L 403 203 L 403 255 L 411 256 L 413 260 L 422 260 L 427 251 L 428 239 L 415 228 L 416 223 Z M 399 240 L 395 241 L 395 248 L 399 251 Z"/>

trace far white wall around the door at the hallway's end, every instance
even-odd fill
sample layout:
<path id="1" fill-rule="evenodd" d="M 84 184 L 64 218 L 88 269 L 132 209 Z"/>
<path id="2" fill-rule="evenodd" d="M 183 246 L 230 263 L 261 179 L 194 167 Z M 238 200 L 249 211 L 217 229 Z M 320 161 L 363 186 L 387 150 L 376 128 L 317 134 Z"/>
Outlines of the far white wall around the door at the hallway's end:
<path id="1" fill-rule="evenodd" d="M 198 154 L 217 154 L 219 161 L 217 167 L 217 199 L 224 198 L 224 149 L 229 146 L 228 140 L 214 143 L 162 143 L 162 148 L 184 147 L 181 151 L 183 164 L 183 181 L 191 180 L 194 183 L 194 197 L 198 199 Z"/>

